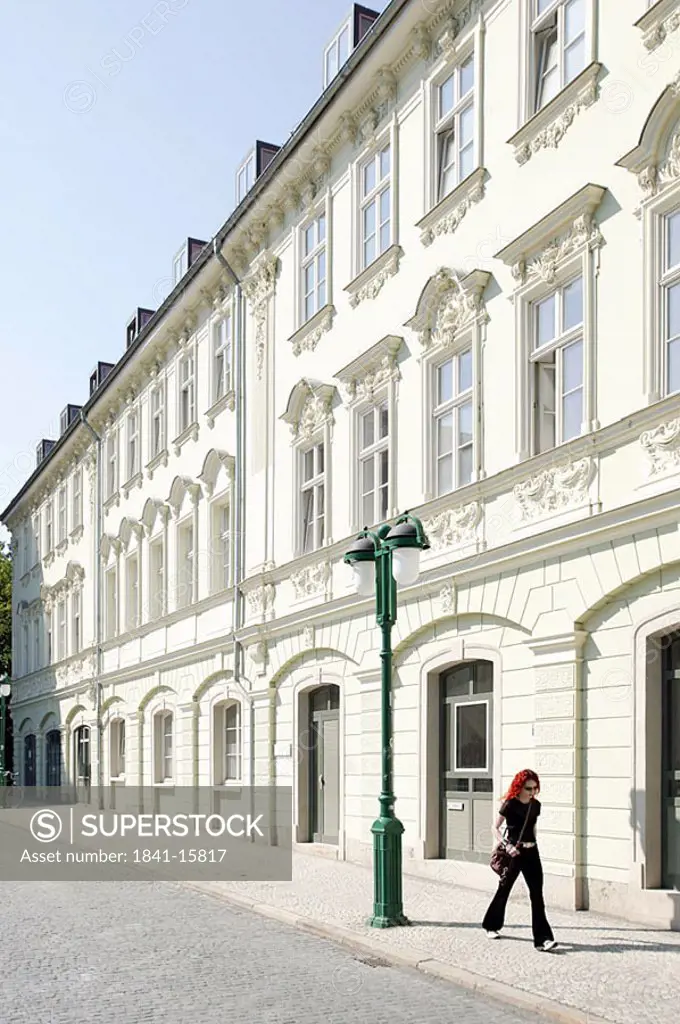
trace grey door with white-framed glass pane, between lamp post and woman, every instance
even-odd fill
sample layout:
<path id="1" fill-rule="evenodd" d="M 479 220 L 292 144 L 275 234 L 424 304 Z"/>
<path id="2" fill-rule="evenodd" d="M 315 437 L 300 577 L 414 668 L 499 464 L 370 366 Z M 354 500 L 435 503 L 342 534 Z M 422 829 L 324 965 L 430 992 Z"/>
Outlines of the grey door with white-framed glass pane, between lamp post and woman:
<path id="1" fill-rule="evenodd" d="M 439 686 L 439 856 L 483 861 L 494 845 L 494 667 L 467 662 Z"/>

